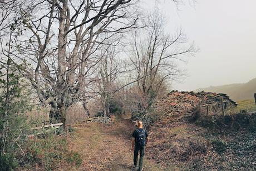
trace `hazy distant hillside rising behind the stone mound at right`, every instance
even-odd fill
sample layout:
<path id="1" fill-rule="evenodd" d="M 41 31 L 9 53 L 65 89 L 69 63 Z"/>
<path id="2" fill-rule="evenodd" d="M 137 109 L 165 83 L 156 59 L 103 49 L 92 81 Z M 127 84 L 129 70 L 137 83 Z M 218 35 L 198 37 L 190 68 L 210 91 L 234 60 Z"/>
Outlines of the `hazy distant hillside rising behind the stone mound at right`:
<path id="1" fill-rule="evenodd" d="M 256 92 L 256 78 L 250 80 L 245 84 L 230 84 L 223 86 L 210 86 L 207 88 L 201 88 L 194 90 L 206 91 L 206 92 L 217 92 L 224 93 L 230 96 L 235 101 L 254 99 L 254 93 Z"/>

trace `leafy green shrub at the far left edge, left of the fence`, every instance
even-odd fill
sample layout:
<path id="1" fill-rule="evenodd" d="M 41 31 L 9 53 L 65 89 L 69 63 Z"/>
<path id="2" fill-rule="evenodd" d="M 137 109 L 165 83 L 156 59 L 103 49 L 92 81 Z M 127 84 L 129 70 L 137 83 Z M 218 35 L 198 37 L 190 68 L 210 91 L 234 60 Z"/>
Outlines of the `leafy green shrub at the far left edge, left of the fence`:
<path id="1" fill-rule="evenodd" d="M 29 131 L 24 113 L 31 109 L 26 82 L 10 62 L 0 65 L 0 164 L 6 170 L 22 162 Z"/>

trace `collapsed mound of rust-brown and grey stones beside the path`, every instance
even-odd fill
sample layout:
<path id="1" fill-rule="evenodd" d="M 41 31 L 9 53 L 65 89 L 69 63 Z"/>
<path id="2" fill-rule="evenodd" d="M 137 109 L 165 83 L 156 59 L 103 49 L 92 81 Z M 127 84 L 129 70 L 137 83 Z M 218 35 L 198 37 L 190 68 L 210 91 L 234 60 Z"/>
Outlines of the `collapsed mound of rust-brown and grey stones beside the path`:
<path id="1" fill-rule="evenodd" d="M 183 115 L 185 113 L 193 113 L 199 106 L 211 105 L 217 108 L 235 107 L 237 103 L 232 101 L 226 94 L 216 94 L 213 92 L 187 92 L 187 91 L 171 91 L 159 102 L 155 107 L 159 110 L 164 110 L 167 116 Z"/>

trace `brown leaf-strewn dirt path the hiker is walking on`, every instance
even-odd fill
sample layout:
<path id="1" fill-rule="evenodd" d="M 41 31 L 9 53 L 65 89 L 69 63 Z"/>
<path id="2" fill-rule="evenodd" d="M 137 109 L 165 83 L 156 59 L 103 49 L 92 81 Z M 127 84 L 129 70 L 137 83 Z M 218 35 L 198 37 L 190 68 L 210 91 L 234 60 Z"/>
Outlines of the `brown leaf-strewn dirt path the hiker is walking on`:
<path id="1" fill-rule="evenodd" d="M 132 168 L 131 133 L 134 126 L 130 120 L 119 120 L 113 125 L 85 123 L 75 126 L 70 150 L 81 154 L 80 167 L 69 170 L 116 170 Z M 146 150 L 145 150 L 146 156 Z M 161 170 L 152 161 L 144 159 L 144 170 Z"/>

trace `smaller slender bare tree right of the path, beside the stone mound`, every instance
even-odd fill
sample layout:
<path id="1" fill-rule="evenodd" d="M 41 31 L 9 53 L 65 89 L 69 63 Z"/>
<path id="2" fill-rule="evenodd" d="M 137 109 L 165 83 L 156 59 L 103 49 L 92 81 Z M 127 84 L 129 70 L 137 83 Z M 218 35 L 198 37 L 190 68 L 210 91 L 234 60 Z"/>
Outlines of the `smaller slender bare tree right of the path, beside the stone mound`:
<path id="1" fill-rule="evenodd" d="M 183 56 L 193 55 L 193 44 L 181 30 L 170 36 L 164 32 L 164 17 L 159 12 L 152 13 L 146 19 L 148 27 L 136 30 L 130 61 L 136 68 L 137 89 L 146 103 L 141 108 L 149 108 L 165 82 L 177 80 L 183 72 L 178 68 L 178 60 Z"/>

